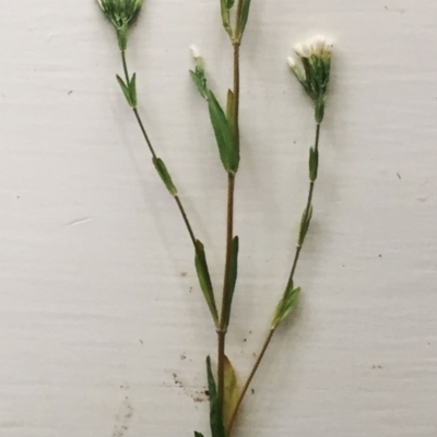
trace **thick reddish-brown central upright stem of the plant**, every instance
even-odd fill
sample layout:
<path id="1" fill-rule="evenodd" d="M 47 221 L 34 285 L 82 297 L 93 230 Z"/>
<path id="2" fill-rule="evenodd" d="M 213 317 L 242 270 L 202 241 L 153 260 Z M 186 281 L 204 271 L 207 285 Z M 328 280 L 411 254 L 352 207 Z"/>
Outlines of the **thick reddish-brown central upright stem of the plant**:
<path id="1" fill-rule="evenodd" d="M 243 11 L 243 0 L 238 0 L 237 5 L 237 25 L 236 32 L 238 32 L 238 23 L 240 22 Z M 239 149 L 239 46 L 240 40 L 233 42 L 234 47 L 234 141 L 235 146 Z M 228 296 L 232 292 L 229 288 L 229 275 L 232 264 L 232 248 L 234 238 L 234 205 L 235 205 L 235 175 L 228 173 L 227 175 L 227 225 L 226 225 L 226 261 L 225 261 L 225 274 L 223 283 L 223 297 L 222 297 L 222 312 L 220 320 L 220 330 L 217 331 L 218 339 L 218 356 L 217 356 L 217 398 L 218 404 L 224 406 L 224 385 L 225 385 L 225 353 L 226 353 L 226 331 L 225 326 L 225 314 L 226 305 L 228 304 Z"/>

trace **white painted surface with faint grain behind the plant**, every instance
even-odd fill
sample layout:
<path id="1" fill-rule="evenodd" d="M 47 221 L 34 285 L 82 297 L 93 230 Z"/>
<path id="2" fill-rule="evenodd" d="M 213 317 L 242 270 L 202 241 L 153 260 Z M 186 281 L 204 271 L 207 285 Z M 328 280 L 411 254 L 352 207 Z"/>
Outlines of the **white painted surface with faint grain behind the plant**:
<path id="1" fill-rule="evenodd" d="M 3 3 L 0 436 L 208 436 L 208 403 L 194 399 L 215 338 L 186 231 L 115 81 L 113 31 L 91 0 Z M 217 3 L 149 0 L 129 59 L 220 284 L 225 177 L 188 76 L 196 43 L 223 102 L 232 52 Z M 237 435 L 434 437 L 433 0 L 253 0 L 229 356 L 245 377 L 290 269 L 314 127 L 285 58 L 319 32 L 336 45 L 315 226 L 296 277 L 305 294 Z"/>

